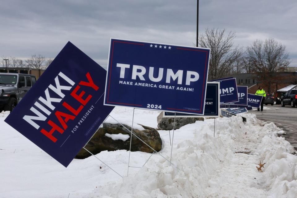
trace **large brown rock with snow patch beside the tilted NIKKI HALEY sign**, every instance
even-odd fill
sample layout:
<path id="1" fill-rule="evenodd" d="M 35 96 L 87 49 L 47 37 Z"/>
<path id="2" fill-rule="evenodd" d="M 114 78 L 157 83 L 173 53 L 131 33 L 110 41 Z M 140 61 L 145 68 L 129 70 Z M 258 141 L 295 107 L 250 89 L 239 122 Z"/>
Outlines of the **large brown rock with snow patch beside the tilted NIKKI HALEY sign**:
<path id="1" fill-rule="evenodd" d="M 129 130 L 131 130 L 131 127 L 127 125 L 124 125 L 124 126 L 127 127 Z M 137 129 L 133 129 L 133 133 L 136 136 L 138 136 L 141 140 L 143 140 L 145 143 L 149 144 L 153 149 L 155 149 L 156 151 L 160 151 L 162 148 L 162 140 L 159 132 L 154 128 L 146 127 L 143 125 L 141 126 L 144 128 L 144 130 L 140 131 Z M 101 151 L 106 151 L 106 150 L 107 151 L 115 151 L 115 150 L 122 150 L 122 149 L 129 150 L 131 136 L 126 141 L 112 140 L 110 137 L 105 136 L 106 133 L 109 133 L 109 134 L 122 133 L 130 136 L 130 132 L 127 129 L 125 129 L 122 125 L 104 123 L 103 127 L 98 129 L 98 131 L 88 142 L 85 148 L 88 149 L 93 154 L 97 154 L 97 153 L 100 153 Z M 147 145 L 145 145 L 135 136 L 132 136 L 131 151 L 142 151 L 147 153 L 153 153 L 152 149 L 150 149 Z M 84 159 L 89 156 L 91 156 L 91 154 L 89 154 L 86 150 L 81 149 L 75 158 Z"/>

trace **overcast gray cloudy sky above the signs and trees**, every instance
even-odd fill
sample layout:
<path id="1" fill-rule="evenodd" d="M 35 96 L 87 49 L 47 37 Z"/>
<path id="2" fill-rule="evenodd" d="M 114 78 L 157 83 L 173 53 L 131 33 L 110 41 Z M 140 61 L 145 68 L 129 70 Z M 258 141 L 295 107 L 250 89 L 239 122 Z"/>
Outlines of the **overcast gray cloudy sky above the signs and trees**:
<path id="1" fill-rule="evenodd" d="M 110 37 L 176 45 L 196 43 L 196 0 L 0 0 L 0 56 L 54 58 L 71 41 L 102 67 Z M 297 66 L 296 0 L 200 0 L 199 33 L 236 32 L 244 48 L 273 37 Z"/>

